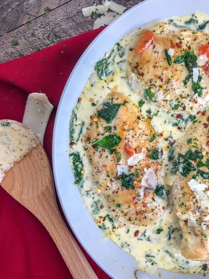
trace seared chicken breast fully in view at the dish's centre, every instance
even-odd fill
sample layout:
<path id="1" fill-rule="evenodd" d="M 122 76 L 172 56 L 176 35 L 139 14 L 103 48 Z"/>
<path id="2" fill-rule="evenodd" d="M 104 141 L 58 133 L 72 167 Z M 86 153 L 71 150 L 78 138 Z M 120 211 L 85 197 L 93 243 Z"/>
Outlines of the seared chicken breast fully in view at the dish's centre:
<path id="1" fill-rule="evenodd" d="M 108 101 L 121 104 L 115 117 L 107 123 L 98 116 L 98 111 L 101 111 L 104 105 L 97 107 L 83 136 L 86 153 L 92 164 L 92 178 L 104 196 L 102 199 L 107 201 L 114 220 L 127 226 L 153 223 L 163 215 L 167 205 L 167 190 L 161 185 L 162 177 L 158 175 L 161 172 L 163 176 L 163 150 L 156 149 L 155 131 L 132 101 L 117 92 L 112 92 L 107 97 Z M 121 138 L 114 148 L 102 148 L 96 143 L 94 145 L 97 139 L 114 134 Z M 111 154 L 113 149 L 114 153 Z M 134 153 L 141 153 L 141 160 L 133 162 L 133 166 L 129 161 L 129 166 L 127 160 Z M 154 159 L 148 155 L 154 156 Z M 123 170 L 118 175 L 121 167 L 126 168 L 125 175 L 121 175 Z M 161 197 L 155 190 L 157 184 L 160 184 L 157 187 L 164 191 Z"/>

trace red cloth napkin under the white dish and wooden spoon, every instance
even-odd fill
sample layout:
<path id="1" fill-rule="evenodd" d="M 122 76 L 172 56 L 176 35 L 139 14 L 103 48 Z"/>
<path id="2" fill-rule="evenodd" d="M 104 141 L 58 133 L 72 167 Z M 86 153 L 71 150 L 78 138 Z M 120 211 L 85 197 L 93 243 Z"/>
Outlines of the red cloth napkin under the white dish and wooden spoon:
<path id="1" fill-rule="evenodd" d="M 51 165 L 52 133 L 60 96 L 77 60 L 102 29 L 81 34 L 34 54 L 0 64 L 0 119 L 22 122 L 29 93 L 45 93 L 53 104 L 54 109 L 44 139 L 44 148 Z M 99 279 L 110 278 L 82 247 L 81 250 Z M 0 278 L 72 278 L 43 225 L 2 187 L 0 187 Z"/>

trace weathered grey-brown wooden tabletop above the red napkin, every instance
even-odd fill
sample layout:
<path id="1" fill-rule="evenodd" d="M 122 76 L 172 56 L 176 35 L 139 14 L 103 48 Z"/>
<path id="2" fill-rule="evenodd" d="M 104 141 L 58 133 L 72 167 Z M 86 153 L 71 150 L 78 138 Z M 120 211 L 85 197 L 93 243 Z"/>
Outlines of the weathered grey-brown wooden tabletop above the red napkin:
<path id="1" fill-rule="evenodd" d="M 115 0 L 125 11 L 143 0 Z M 0 0 L 0 63 L 93 29 L 82 8 L 101 0 Z"/>

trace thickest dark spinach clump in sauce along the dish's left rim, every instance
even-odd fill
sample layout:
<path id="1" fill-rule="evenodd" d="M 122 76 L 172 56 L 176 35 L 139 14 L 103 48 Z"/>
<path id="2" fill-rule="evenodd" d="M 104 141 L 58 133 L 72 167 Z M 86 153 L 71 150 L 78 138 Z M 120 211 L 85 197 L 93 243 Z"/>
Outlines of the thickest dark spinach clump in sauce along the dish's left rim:
<path id="1" fill-rule="evenodd" d="M 73 152 L 69 156 L 72 157 L 72 170 L 75 177 L 75 184 L 79 185 L 83 180 L 83 174 L 81 173 L 81 170 L 84 169 L 83 162 L 78 152 Z"/>

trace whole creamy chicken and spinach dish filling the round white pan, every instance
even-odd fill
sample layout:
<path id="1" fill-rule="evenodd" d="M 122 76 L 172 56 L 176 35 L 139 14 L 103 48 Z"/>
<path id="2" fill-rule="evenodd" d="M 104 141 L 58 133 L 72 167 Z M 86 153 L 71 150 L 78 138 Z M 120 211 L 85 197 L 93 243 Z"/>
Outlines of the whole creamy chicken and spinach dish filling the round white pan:
<path id="1" fill-rule="evenodd" d="M 96 63 L 70 121 L 70 163 L 85 205 L 149 273 L 208 269 L 208 77 L 196 62 L 208 21 L 196 12 L 125 36 Z M 157 39 L 137 56 L 146 30 Z"/>

